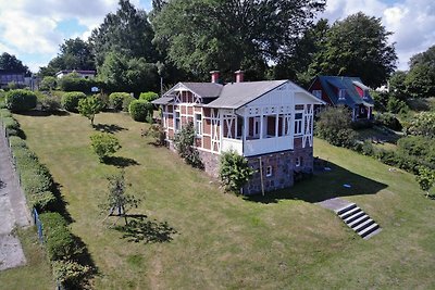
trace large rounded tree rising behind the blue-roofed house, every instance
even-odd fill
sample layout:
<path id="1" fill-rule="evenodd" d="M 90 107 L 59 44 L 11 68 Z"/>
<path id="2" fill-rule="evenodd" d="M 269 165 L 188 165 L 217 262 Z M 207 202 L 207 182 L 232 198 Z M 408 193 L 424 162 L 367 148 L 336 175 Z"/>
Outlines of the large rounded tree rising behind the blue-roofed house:
<path id="1" fill-rule="evenodd" d="M 380 87 L 396 68 L 397 55 L 394 45 L 388 43 L 389 35 L 381 18 L 362 12 L 337 21 L 311 70 L 316 74 L 359 76 L 368 86 Z"/>

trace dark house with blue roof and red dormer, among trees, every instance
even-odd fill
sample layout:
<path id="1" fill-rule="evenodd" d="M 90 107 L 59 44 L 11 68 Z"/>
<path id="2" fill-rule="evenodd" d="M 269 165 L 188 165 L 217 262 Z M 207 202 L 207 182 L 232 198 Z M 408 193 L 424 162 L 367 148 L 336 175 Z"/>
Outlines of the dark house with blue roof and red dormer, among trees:
<path id="1" fill-rule="evenodd" d="M 374 101 L 359 77 L 318 76 L 308 90 L 330 105 L 349 108 L 352 121 L 372 117 Z"/>

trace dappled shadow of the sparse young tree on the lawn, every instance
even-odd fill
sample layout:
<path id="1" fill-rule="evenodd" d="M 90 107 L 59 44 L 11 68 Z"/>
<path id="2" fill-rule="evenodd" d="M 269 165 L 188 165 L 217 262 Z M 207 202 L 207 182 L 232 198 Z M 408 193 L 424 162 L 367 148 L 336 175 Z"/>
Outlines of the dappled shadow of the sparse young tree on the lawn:
<path id="1" fill-rule="evenodd" d="M 144 243 L 170 242 L 172 235 L 177 232 L 167 222 L 151 220 L 146 215 L 128 215 L 128 224 L 114 229 L 129 242 Z"/>

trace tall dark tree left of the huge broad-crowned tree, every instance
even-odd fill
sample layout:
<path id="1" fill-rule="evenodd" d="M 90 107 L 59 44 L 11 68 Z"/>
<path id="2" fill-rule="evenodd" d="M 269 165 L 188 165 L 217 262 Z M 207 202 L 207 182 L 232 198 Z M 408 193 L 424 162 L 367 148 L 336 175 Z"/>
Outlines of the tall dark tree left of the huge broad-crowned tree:
<path id="1" fill-rule="evenodd" d="M 156 62 L 156 50 L 151 43 L 153 36 L 147 13 L 136 9 L 128 0 L 120 0 L 116 13 L 109 13 L 89 38 L 97 67 L 99 68 L 105 55 L 113 51 L 127 59 L 145 58 L 147 62 Z"/>

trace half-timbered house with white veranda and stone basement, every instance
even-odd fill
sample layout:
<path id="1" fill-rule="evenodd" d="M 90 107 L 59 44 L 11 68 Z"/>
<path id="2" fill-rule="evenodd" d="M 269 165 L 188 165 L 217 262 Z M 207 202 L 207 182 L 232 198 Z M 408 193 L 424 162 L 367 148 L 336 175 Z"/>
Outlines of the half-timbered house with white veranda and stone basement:
<path id="1" fill-rule="evenodd" d="M 253 194 L 294 185 L 295 174 L 313 169 L 313 109 L 324 102 L 289 80 L 178 83 L 153 101 L 162 108 L 162 125 L 172 147 L 175 134 L 192 122 L 196 148 L 212 176 L 219 157 L 234 150 L 256 169 L 243 188 Z"/>

